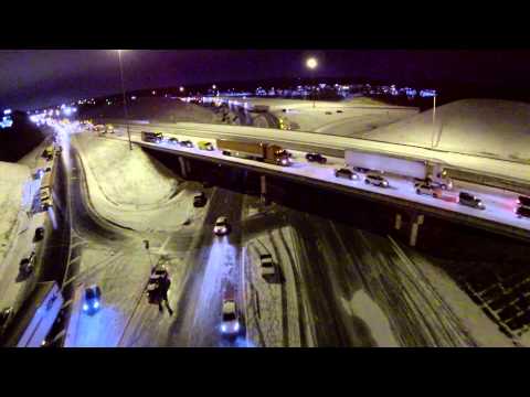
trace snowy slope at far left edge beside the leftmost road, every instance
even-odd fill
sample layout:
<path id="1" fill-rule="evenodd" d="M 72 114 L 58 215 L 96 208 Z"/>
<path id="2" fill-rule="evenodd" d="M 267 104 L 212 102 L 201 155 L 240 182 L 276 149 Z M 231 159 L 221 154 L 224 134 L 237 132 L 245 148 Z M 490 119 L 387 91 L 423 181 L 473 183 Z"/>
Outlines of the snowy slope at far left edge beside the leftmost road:
<path id="1" fill-rule="evenodd" d="M 25 165 L 0 162 L 0 264 L 15 242 L 17 221 L 21 210 L 24 183 L 31 179 Z M 25 215 L 24 215 L 25 216 Z"/>

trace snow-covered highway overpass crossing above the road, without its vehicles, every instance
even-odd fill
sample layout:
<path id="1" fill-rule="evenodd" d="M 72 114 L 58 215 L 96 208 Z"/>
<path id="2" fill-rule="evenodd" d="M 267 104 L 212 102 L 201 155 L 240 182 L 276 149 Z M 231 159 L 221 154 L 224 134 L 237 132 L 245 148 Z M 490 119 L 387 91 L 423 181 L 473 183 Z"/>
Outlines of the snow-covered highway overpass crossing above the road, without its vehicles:
<path id="1" fill-rule="evenodd" d="M 120 120 L 106 121 L 113 122 L 113 125 L 121 131 L 126 130 L 126 126 L 120 124 Z M 519 219 L 512 213 L 517 194 L 499 189 L 480 186 L 480 178 L 487 175 L 490 178 L 490 181 L 502 183 L 504 185 L 500 186 L 502 189 L 512 184 L 517 189 L 526 191 L 529 182 L 530 165 L 488 158 L 473 158 L 460 153 L 449 153 L 439 150 L 428 150 L 385 142 L 252 127 L 188 122 L 151 125 L 132 121 L 129 124 L 129 130 L 135 143 L 155 150 L 171 152 L 178 154 L 182 159 L 199 159 L 245 168 L 262 173 L 263 175 L 287 178 L 299 182 L 301 181 L 303 183 L 319 185 L 324 189 L 332 189 L 348 194 L 356 194 L 370 200 L 385 202 L 414 214 L 431 214 L 433 216 L 449 218 L 455 222 L 469 224 L 490 232 L 516 236 L 523 239 L 530 238 L 530 222 L 524 218 Z M 296 161 L 300 161 L 304 167 L 279 168 L 246 159 L 226 158 L 219 151 L 201 151 L 197 148 L 182 148 L 167 142 L 161 144 L 142 142 L 140 137 L 141 131 L 162 132 L 166 136 L 174 136 L 179 140 L 190 139 L 195 142 L 195 146 L 199 140 L 204 138 L 259 140 L 280 144 L 292 151 L 319 151 L 330 155 L 332 161 L 327 165 L 307 163 L 304 159 L 304 153 L 298 153 L 300 160 L 297 159 Z M 123 133 L 119 137 L 115 136 L 115 138 L 125 140 L 127 139 L 127 136 Z M 343 163 L 343 153 L 347 149 L 368 150 L 406 159 L 428 160 L 463 172 L 465 171 L 468 173 L 468 176 L 471 175 L 473 178 L 476 178 L 476 181 L 474 182 L 479 184 L 476 186 L 469 186 L 466 182 L 462 182 L 462 185 L 456 186 L 457 190 L 463 190 L 463 187 L 465 187 L 466 191 L 476 193 L 478 196 L 483 197 L 488 208 L 480 212 L 476 208 L 464 207 L 456 204 L 454 200 L 455 194 L 451 195 L 449 193 L 445 200 L 418 196 L 411 187 L 412 184 L 410 180 L 404 179 L 391 180 L 391 184 L 399 187 L 396 190 L 381 190 L 358 182 L 336 179 L 332 174 L 332 169 L 340 167 L 341 162 Z M 480 174 L 480 169 L 486 169 L 487 172 Z M 516 189 L 512 191 L 516 191 Z"/>

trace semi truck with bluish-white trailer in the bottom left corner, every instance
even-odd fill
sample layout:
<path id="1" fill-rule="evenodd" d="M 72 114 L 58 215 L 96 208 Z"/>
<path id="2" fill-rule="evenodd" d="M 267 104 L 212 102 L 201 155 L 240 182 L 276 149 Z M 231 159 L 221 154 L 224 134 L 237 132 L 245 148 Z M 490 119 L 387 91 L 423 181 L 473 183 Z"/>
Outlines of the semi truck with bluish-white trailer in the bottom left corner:
<path id="1" fill-rule="evenodd" d="M 57 319 L 64 299 L 55 281 L 38 282 L 1 337 L 7 347 L 41 347 Z"/>

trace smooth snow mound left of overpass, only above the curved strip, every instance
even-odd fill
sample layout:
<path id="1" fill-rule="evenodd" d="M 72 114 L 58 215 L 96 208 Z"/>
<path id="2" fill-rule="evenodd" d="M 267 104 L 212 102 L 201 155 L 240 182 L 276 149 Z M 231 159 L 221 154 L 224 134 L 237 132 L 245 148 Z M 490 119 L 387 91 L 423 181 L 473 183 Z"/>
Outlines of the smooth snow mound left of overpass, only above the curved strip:
<path id="1" fill-rule="evenodd" d="M 80 135 L 76 141 L 83 161 L 113 204 L 129 208 L 156 207 L 176 193 L 174 175 L 139 148 L 129 150 L 124 142 L 89 135 Z"/>

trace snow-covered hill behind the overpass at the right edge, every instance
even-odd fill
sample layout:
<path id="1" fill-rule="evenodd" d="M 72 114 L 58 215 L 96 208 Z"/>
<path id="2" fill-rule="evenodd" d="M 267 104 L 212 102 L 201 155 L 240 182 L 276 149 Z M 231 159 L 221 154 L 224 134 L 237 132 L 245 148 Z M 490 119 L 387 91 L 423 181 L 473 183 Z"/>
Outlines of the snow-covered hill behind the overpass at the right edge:
<path id="1" fill-rule="evenodd" d="M 362 138 L 530 163 L 530 104 L 462 99 L 367 132 Z M 433 133 L 434 131 L 434 133 Z"/>

